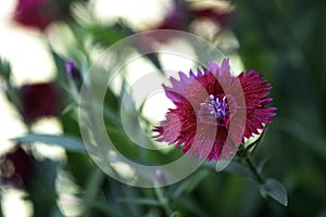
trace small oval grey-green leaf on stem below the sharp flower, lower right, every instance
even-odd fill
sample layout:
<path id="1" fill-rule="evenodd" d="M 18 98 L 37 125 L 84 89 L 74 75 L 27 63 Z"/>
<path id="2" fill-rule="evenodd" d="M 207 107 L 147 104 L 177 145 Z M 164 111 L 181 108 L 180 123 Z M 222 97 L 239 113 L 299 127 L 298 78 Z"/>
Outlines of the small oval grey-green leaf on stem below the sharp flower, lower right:
<path id="1" fill-rule="evenodd" d="M 288 195 L 285 187 L 275 179 L 267 179 L 263 186 L 266 193 L 284 206 L 288 205 Z"/>

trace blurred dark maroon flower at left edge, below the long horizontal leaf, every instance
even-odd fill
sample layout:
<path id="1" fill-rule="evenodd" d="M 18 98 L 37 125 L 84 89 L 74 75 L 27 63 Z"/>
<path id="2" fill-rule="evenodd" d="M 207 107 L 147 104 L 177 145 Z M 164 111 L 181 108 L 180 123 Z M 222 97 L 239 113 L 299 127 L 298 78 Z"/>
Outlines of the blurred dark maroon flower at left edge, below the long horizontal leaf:
<path id="1" fill-rule="evenodd" d="M 17 145 L 0 157 L 1 182 L 4 184 L 21 186 L 33 177 L 36 161 L 22 146 Z"/>

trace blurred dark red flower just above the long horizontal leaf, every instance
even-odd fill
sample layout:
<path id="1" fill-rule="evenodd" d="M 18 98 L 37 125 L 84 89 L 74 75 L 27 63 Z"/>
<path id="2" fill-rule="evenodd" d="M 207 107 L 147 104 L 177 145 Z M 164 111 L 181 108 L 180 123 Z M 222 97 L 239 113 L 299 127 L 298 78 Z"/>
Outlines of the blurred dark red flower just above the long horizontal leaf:
<path id="1" fill-rule="evenodd" d="M 21 88 L 22 113 L 27 123 L 57 116 L 61 108 L 61 91 L 55 82 L 24 85 Z"/>

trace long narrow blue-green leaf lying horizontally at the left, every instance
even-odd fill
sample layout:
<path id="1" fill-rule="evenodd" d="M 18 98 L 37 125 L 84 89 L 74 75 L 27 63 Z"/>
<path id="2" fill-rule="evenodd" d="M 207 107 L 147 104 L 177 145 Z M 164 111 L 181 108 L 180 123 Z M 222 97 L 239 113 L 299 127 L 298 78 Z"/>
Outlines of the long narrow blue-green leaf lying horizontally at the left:
<path id="1" fill-rule="evenodd" d="M 41 142 L 50 145 L 59 145 L 65 150 L 73 151 L 73 152 L 83 152 L 83 153 L 87 152 L 83 141 L 70 136 L 28 133 L 23 137 L 13 138 L 11 140 L 24 144 Z"/>

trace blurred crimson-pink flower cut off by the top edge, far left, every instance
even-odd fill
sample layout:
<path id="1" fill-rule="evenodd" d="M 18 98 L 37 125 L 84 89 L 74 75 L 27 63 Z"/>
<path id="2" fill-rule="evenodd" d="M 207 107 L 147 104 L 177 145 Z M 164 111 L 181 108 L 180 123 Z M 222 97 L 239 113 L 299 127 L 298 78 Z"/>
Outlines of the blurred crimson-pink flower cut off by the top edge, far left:
<path id="1" fill-rule="evenodd" d="M 45 30 L 52 22 L 62 18 L 64 12 L 58 1 L 17 0 L 14 21 L 18 24 Z"/>

